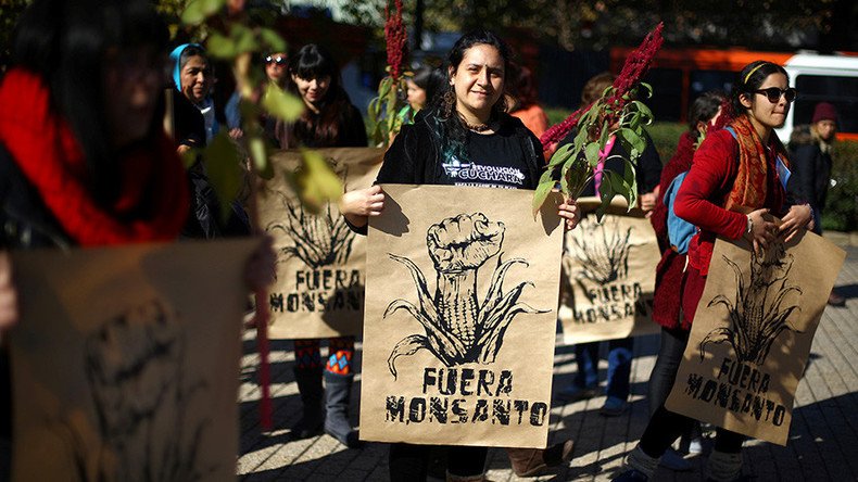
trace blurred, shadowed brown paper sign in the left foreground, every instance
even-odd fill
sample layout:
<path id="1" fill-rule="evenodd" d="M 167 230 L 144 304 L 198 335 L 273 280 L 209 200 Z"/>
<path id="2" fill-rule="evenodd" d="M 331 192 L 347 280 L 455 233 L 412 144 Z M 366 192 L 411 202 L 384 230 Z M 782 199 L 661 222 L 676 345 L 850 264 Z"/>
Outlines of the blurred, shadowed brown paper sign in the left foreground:
<path id="1" fill-rule="evenodd" d="M 235 479 L 257 243 L 13 253 L 13 479 Z"/>

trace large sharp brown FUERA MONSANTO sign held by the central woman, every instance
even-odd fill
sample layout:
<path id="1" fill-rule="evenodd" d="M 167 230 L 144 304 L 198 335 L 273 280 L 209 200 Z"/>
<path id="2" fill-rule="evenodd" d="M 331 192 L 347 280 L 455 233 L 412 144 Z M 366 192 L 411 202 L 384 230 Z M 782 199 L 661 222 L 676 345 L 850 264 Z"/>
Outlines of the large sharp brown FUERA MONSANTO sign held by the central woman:
<path id="1" fill-rule="evenodd" d="M 370 219 L 361 437 L 544 447 L 563 228 L 532 191 L 386 185 Z"/>

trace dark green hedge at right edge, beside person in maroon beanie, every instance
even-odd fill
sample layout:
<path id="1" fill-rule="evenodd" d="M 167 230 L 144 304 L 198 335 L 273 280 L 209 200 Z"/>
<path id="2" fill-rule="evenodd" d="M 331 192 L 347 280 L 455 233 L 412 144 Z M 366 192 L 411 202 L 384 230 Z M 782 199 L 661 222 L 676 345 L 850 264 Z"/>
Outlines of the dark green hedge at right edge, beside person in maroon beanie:
<path id="1" fill-rule="evenodd" d="M 822 211 L 822 229 L 858 230 L 858 142 L 834 144 L 832 183 Z"/>

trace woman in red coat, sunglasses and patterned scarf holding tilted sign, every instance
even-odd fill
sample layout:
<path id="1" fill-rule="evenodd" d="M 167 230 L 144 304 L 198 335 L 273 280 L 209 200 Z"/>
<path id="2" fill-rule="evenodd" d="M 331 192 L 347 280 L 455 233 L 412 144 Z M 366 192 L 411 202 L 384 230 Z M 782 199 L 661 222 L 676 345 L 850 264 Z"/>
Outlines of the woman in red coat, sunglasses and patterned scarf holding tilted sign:
<path id="1" fill-rule="evenodd" d="M 694 319 L 703 295 L 715 239 L 745 238 L 755 251 L 775 237 L 791 240 L 800 229 L 812 226 L 810 206 L 787 207 L 784 185 L 788 178 L 786 152 L 773 132 L 783 125 L 796 91 L 780 65 L 756 61 L 746 65 L 733 84 L 733 119 L 722 130 L 709 132 L 694 154 L 674 202 L 676 214 L 699 227 L 689 246 L 689 267 L 682 295 L 684 326 Z M 723 114 L 722 114 L 723 115 Z M 747 214 L 742 214 L 746 212 Z M 771 213 L 782 216 L 780 227 L 767 220 Z M 680 360 L 684 344 L 672 356 Z M 663 353 L 659 354 L 663 356 Z M 679 362 L 676 363 L 679 366 Z M 658 459 L 691 423 L 687 417 L 660 406 L 646 427 L 641 442 L 627 460 L 627 469 L 614 480 L 638 481 L 653 477 Z M 715 449 L 709 455 L 710 480 L 731 481 L 742 472 L 744 435 L 718 429 Z"/>

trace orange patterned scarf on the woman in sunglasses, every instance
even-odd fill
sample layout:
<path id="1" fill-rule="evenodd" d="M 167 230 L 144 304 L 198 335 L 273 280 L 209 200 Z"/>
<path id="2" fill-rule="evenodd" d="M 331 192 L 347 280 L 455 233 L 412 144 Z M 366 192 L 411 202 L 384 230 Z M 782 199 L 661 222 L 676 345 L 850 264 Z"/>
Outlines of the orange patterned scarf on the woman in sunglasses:
<path id="1" fill-rule="evenodd" d="M 762 145 L 762 141 L 746 115 L 736 116 L 730 123 L 730 127 L 735 131 L 739 142 L 739 172 L 733 181 L 733 190 L 727 196 L 724 208 L 749 213 L 766 204 L 766 196 L 769 193 L 767 178 L 769 169 L 775 169 L 775 160 L 780 156 L 784 165 L 788 167 L 786 150 L 778 136 L 772 132 L 769 145 L 774 151 L 774 155 L 767 156 L 767 148 Z"/>

